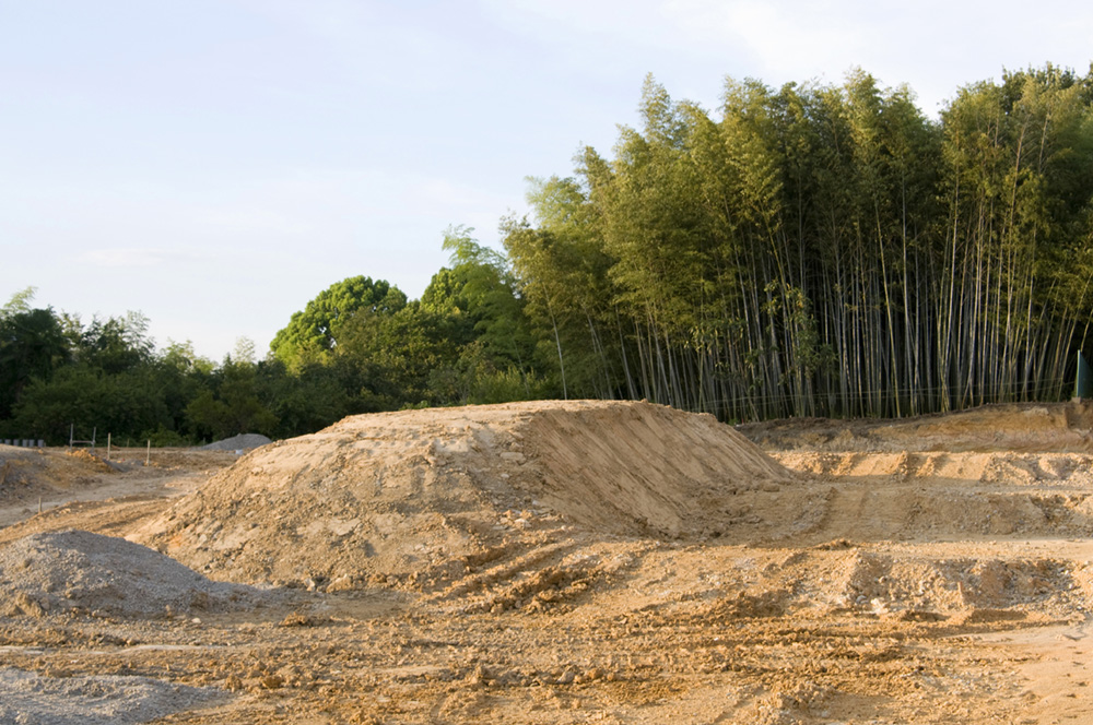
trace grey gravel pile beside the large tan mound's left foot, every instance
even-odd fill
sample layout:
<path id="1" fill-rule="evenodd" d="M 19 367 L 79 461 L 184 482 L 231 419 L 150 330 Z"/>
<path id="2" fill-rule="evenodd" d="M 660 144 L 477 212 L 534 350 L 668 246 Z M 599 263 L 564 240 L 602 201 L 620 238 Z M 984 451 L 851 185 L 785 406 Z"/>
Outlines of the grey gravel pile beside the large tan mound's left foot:
<path id="1" fill-rule="evenodd" d="M 32 534 L 0 549 L 0 615 L 82 611 L 156 617 L 254 606 L 248 587 L 210 582 L 162 554 L 84 531 Z"/>

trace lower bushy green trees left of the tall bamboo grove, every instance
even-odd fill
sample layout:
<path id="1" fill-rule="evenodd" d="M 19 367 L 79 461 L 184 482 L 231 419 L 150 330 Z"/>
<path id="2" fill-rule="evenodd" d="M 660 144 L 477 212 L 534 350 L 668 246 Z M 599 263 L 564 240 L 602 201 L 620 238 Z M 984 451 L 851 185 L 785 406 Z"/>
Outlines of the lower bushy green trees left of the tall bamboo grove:
<path id="1" fill-rule="evenodd" d="M 262 359 L 245 338 L 219 364 L 189 343 L 157 350 L 140 313 L 84 324 L 24 290 L 0 308 L 0 439 L 62 444 L 73 428 L 118 445 L 287 438 L 357 413 L 552 396 L 504 258 L 461 227 L 444 245 L 451 265 L 420 300 L 343 280 L 293 314 Z"/>

